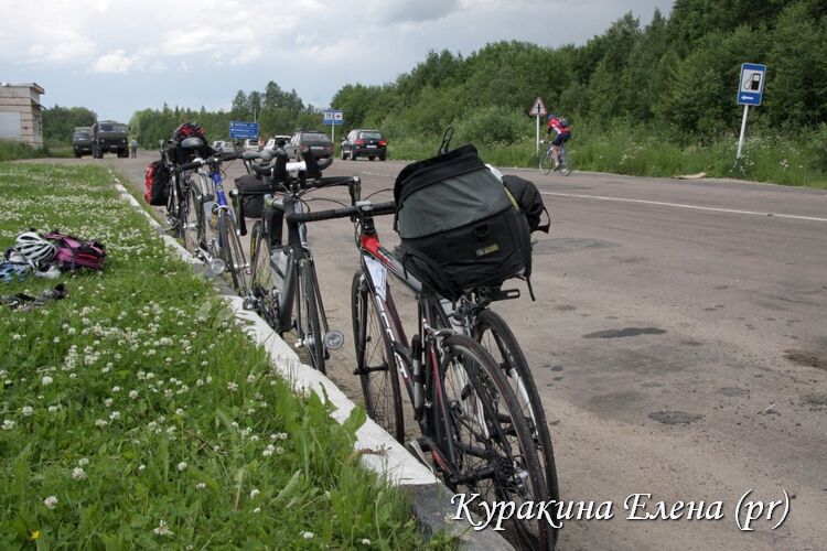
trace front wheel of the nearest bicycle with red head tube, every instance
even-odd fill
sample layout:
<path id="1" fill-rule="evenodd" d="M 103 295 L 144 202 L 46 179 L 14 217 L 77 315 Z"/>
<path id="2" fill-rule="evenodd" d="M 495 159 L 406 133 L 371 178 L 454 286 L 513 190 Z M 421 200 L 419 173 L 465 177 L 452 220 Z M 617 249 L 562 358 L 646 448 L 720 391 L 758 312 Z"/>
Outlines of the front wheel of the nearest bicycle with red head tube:
<path id="1" fill-rule="evenodd" d="M 367 284 L 363 285 L 362 272 L 354 273 L 351 285 L 353 342 L 365 409 L 370 419 L 402 442 L 405 421 L 396 357 L 374 301 Z"/>

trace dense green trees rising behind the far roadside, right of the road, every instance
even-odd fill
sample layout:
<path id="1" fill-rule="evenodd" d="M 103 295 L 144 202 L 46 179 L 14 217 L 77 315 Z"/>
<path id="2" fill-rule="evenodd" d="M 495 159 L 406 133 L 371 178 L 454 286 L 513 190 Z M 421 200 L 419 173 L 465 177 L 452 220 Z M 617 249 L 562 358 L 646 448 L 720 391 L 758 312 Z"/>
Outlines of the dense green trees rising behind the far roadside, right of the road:
<path id="1" fill-rule="evenodd" d="M 582 46 L 488 44 L 468 57 L 430 52 L 393 83 L 346 85 L 332 106 L 348 125 L 434 140 L 447 125 L 471 141 L 533 136 L 541 96 L 574 127 L 644 127 L 683 143 L 737 132 L 741 64 L 769 66 L 751 128 L 795 132 L 827 120 L 827 2 L 677 0 L 641 26 L 631 13 Z"/>

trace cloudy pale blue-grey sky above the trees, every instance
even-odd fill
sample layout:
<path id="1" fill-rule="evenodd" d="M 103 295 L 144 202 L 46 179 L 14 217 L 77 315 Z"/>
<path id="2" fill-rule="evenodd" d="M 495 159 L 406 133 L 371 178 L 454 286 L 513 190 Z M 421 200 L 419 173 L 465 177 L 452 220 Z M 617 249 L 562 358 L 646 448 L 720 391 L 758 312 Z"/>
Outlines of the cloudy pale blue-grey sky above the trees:
<path id="1" fill-rule="evenodd" d="M 0 0 L 0 82 L 34 82 L 46 107 L 123 122 L 164 102 L 228 110 L 239 89 L 264 91 L 269 80 L 335 107 L 342 86 L 393 82 L 429 51 L 468 56 L 504 40 L 581 45 L 626 12 L 645 25 L 673 3 Z"/>

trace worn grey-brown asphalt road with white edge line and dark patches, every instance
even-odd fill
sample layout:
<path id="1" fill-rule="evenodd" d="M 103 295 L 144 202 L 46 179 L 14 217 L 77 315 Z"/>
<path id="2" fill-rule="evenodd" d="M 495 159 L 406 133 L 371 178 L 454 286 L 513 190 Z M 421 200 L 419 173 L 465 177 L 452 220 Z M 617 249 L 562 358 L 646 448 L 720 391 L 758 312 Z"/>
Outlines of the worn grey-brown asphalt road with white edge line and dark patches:
<path id="1" fill-rule="evenodd" d="M 103 163 L 142 186 L 152 158 Z M 243 170 L 236 164 L 230 176 Z M 327 173 L 361 174 L 364 196 L 391 188 L 402 166 L 337 160 Z M 610 520 L 567 521 L 560 548 L 824 549 L 827 193 L 503 172 L 539 186 L 552 225 L 535 248 L 537 302 L 524 292 L 495 310 L 518 336 L 543 395 L 561 497 L 613 505 Z M 396 240 L 388 220 L 379 234 L 387 245 Z M 331 324 L 348 337 L 329 374 L 358 399 L 352 227 L 314 224 L 310 236 Z M 750 489 L 748 500 L 786 491 L 787 520 L 771 529 L 782 504 L 772 521 L 740 531 L 737 505 Z M 630 520 L 632 494 L 651 494 L 645 511 L 653 515 L 657 501 L 668 509 L 704 501 L 705 511 L 722 501 L 723 518 L 688 520 L 687 506 L 678 520 Z"/>

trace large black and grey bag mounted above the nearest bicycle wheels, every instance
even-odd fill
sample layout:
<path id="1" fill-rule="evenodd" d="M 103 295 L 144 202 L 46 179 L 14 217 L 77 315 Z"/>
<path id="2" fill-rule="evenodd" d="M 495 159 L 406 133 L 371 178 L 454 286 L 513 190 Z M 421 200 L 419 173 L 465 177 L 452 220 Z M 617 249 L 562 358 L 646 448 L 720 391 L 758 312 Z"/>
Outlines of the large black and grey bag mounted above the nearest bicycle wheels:
<path id="1" fill-rule="evenodd" d="M 402 264 L 441 295 L 530 274 L 526 217 L 473 145 L 409 164 L 394 198 Z"/>

